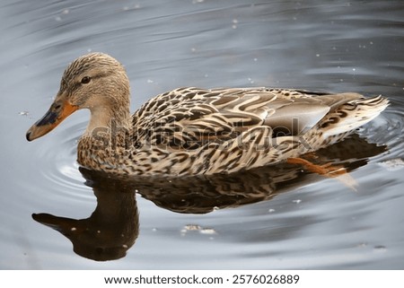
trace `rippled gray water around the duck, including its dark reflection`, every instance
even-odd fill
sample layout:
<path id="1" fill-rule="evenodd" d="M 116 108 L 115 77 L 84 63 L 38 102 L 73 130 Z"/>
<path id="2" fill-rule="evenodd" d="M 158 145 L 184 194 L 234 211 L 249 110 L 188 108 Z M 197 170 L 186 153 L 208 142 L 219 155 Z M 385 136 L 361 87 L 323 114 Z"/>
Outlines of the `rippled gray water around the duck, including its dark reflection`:
<path id="1" fill-rule="evenodd" d="M 0 5 L 0 268 L 404 268 L 402 1 Z M 391 106 L 358 131 L 365 141 L 334 149 L 356 188 L 288 167 L 115 182 L 75 161 L 87 111 L 25 140 L 89 51 L 126 65 L 133 110 L 179 86 L 352 91 Z"/>

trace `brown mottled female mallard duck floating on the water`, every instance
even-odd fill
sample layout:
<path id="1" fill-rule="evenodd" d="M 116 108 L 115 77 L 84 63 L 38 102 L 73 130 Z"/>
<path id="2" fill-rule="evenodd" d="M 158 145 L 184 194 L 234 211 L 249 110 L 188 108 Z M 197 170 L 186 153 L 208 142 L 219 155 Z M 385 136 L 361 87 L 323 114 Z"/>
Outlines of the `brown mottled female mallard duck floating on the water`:
<path id="1" fill-rule="evenodd" d="M 232 173 L 334 144 L 388 105 L 381 96 L 288 89 L 179 88 L 129 113 L 124 67 L 91 53 L 68 65 L 57 97 L 27 132 L 34 140 L 77 109 L 91 118 L 78 162 L 124 175 Z"/>

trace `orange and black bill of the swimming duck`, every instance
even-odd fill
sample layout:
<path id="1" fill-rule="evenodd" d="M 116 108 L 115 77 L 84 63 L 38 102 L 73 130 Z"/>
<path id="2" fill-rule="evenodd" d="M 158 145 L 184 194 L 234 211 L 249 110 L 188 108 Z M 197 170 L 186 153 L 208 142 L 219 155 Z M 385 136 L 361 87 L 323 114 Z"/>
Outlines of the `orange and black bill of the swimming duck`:
<path id="1" fill-rule="evenodd" d="M 46 135 L 67 118 L 67 116 L 75 112 L 76 109 L 78 107 L 70 104 L 67 100 L 62 102 L 61 105 L 53 103 L 48 112 L 27 131 L 27 140 L 32 141 Z"/>

